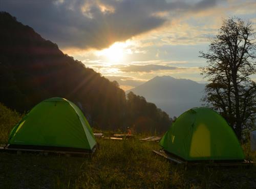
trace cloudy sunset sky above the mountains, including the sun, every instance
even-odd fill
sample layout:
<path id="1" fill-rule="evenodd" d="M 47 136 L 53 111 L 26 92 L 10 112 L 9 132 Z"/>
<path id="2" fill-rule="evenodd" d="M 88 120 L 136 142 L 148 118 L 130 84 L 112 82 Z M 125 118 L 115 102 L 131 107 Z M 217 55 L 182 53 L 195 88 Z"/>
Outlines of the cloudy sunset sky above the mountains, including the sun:
<path id="1" fill-rule="evenodd" d="M 124 90 L 156 76 L 205 83 L 199 52 L 207 52 L 223 19 L 242 18 L 256 31 L 255 0 L 0 0 L 0 11 Z"/>

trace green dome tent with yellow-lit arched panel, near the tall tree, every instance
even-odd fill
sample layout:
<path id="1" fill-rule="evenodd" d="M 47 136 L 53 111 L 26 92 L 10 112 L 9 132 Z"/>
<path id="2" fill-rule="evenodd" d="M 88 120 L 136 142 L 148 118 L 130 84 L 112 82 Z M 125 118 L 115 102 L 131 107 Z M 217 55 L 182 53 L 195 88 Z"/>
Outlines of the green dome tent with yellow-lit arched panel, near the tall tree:
<path id="1" fill-rule="evenodd" d="M 243 160 L 236 134 L 209 108 L 192 108 L 178 117 L 160 140 L 163 149 L 185 160 Z"/>

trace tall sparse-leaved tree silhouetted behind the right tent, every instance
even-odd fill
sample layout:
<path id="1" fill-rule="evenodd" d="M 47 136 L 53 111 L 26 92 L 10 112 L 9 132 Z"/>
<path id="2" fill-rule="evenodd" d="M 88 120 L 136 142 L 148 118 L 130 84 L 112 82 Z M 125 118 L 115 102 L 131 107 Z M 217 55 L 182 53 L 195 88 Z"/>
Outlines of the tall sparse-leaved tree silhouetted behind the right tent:
<path id="1" fill-rule="evenodd" d="M 203 101 L 218 110 L 242 138 L 242 130 L 255 119 L 256 74 L 255 33 L 250 22 L 240 18 L 223 20 L 219 34 L 207 53 L 200 52 L 208 65 L 202 75 L 209 81 Z"/>

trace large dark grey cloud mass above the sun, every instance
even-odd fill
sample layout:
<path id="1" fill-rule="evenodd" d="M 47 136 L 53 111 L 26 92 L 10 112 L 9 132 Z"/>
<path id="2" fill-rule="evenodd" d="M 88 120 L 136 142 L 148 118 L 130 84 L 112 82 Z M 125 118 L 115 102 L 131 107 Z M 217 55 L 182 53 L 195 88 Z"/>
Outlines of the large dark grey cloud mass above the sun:
<path id="1" fill-rule="evenodd" d="M 0 10 L 16 16 L 61 48 L 106 48 L 115 41 L 162 26 L 159 12 L 205 10 L 216 1 L 1 1 Z"/>

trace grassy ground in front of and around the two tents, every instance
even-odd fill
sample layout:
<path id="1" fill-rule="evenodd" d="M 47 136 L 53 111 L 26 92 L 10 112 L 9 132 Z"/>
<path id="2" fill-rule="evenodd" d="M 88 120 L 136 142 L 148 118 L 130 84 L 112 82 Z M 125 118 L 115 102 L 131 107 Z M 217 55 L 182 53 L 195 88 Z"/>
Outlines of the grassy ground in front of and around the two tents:
<path id="1" fill-rule="evenodd" d="M 0 105 L 0 141 L 20 115 Z M 184 167 L 151 151 L 157 143 L 98 139 L 90 158 L 0 153 L 0 188 L 253 188 L 256 167 Z M 247 158 L 256 160 L 244 145 Z"/>

